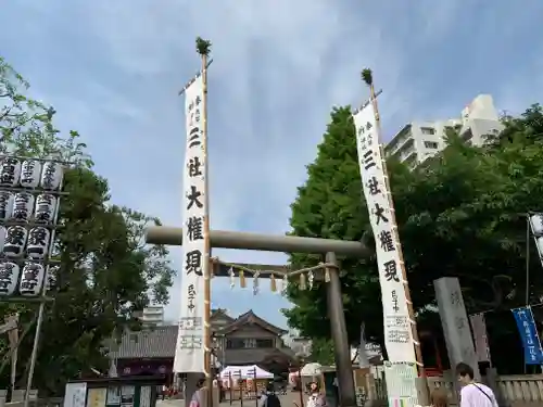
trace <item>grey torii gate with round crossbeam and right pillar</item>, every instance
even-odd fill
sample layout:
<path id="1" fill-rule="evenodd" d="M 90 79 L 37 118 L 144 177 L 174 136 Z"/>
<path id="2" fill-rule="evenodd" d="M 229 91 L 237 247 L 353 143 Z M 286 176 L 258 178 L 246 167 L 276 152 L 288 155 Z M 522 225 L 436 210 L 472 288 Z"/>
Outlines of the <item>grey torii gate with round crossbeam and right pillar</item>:
<path id="1" fill-rule="evenodd" d="M 184 233 L 181 228 L 175 227 L 150 227 L 147 229 L 146 242 L 151 244 L 182 245 Z M 351 364 L 350 345 L 346 334 L 345 315 L 343 311 L 343 300 L 341 295 L 341 282 L 339 278 L 339 264 L 337 256 L 364 257 L 370 251 L 361 242 L 299 238 L 290 236 L 272 236 L 258 233 L 232 232 L 224 230 L 210 231 L 211 247 L 216 249 L 240 249 L 268 252 L 287 253 L 312 253 L 325 255 L 325 263 L 317 266 L 320 272 L 316 274 L 316 279 L 325 281 L 328 303 L 328 317 L 336 351 L 336 367 L 338 374 L 338 387 L 340 394 L 340 405 L 343 407 L 356 406 L 356 393 Z M 262 269 L 269 267 L 262 265 Z M 329 278 L 324 278 L 323 269 Z M 288 276 L 298 275 L 304 270 L 289 271 Z M 215 269 L 216 277 L 227 277 L 228 268 L 219 267 Z M 261 278 L 270 277 L 263 271 Z M 328 280 L 328 281 L 326 281 Z M 189 398 L 190 399 L 190 398 Z"/>

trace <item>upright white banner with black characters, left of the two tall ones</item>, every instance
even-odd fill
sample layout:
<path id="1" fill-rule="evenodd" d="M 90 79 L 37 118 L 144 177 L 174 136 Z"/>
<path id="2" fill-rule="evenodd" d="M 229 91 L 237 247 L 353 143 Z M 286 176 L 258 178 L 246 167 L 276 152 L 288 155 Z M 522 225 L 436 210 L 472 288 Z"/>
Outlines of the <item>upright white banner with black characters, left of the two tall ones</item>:
<path id="1" fill-rule="evenodd" d="M 205 372 L 204 276 L 209 267 L 205 239 L 207 194 L 205 182 L 203 119 L 203 81 L 200 75 L 185 90 L 187 150 L 182 185 L 182 251 L 181 309 L 174 371 Z"/>

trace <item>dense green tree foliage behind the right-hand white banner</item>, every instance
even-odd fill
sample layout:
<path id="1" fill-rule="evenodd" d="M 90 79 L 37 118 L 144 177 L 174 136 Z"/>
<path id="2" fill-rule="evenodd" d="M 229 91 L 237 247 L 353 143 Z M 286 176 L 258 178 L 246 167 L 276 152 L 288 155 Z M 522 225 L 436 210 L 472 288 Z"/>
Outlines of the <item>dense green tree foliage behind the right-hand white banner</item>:
<path id="1" fill-rule="evenodd" d="M 449 147 L 409 168 L 389 160 L 389 174 L 409 288 L 417 310 L 435 304 L 433 280 L 458 277 L 468 313 L 525 304 L 526 213 L 543 211 L 543 112 L 533 105 L 506 117 L 505 129 L 481 148 L 449 135 Z M 307 181 L 292 207 L 292 234 L 362 240 L 375 247 L 362 193 L 350 107 L 334 109 Z M 323 260 L 293 254 L 295 267 Z M 532 247 L 530 298 L 543 294 L 541 264 Z M 382 343 L 382 308 L 375 255 L 343 258 L 343 304 L 352 343 L 366 323 L 369 341 Z M 285 314 L 303 335 L 329 338 L 323 287 L 299 291 Z M 419 325 L 419 329 L 420 329 Z"/>

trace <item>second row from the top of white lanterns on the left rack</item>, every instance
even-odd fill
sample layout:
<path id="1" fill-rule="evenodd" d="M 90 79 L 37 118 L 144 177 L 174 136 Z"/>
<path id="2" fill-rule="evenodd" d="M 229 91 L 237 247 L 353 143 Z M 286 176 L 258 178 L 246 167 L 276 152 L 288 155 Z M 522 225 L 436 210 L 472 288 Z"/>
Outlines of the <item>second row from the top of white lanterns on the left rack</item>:
<path id="1" fill-rule="evenodd" d="M 50 225 L 58 200 L 50 193 L 36 198 L 29 192 L 0 191 L 0 221 L 34 221 Z"/>

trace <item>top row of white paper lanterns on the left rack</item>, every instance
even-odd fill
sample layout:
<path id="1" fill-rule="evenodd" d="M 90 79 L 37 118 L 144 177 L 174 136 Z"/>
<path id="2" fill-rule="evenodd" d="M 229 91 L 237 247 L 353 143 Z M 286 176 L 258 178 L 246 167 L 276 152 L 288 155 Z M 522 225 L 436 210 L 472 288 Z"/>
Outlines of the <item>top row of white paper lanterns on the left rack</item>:
<path id="1" fill-rule="evenodd" d="M 1 187 L 22 187 L 22 188 L 42 188 L 45 190 L 58 190 L 62 182 L 62 165 L 39 160 L 20 160 L 12 156 L 5 156 L 0 161 L 0 186 Z"/>

